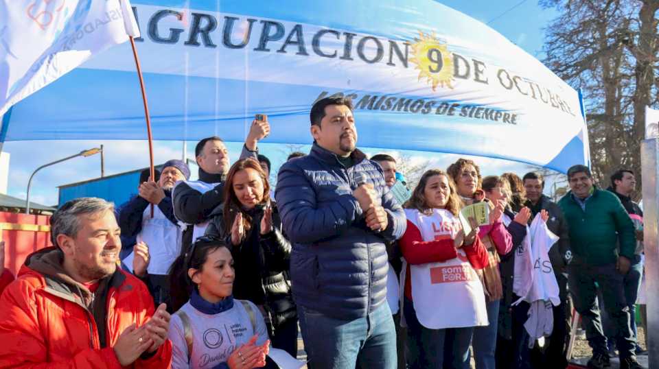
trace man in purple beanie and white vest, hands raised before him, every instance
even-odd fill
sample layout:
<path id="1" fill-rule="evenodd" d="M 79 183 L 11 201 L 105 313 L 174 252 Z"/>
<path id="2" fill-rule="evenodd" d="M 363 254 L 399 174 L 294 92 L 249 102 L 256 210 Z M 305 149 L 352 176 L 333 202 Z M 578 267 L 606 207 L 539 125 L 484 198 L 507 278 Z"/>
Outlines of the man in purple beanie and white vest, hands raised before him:
<path id="1" fill-rule="evenodd" d="M 136 258 L 141 258 L 141 265 L 148 264 L 146 270 L 133 267 L 132 272 L 139 278 L 148 279 L 156 304 L 169 300 L 167 274 L 181 252 L 183 231 L 174 217 L 172 188 L 176 182 L 189 178 L 190 169 L 183 160 L 168 160 L 162 166 L 159 179 L 142 182 L 137 189 L 139 195 L 119 212 L 122 235 L 134 236 L 137 242 L 135 250 L 124 259 L 124 263 L 132 266 Z M 150 204 L 153 204 L 153 216 Z"/>

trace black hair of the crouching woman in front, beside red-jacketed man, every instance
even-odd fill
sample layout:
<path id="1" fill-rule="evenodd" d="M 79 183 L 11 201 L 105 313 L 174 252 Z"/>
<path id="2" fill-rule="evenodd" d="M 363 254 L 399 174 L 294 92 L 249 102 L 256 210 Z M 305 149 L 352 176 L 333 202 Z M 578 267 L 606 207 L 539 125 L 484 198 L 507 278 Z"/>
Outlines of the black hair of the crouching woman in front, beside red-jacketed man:
<path id="1" fill-rule="evenodd" d="M 170 282 L 170 304 L 168 308 L 170 312 L 174 313 L 181 309 L 190 299 L 192 289 L 195 288 L 192 279 L 187 274 L 187 270 L 191 267 L 201 270 L 208 259 L 208 254 L 219 248 L 231 250 L 227 242 L 222 239 L 202 236 L 198 237 L 189 246 L 188 250 L 185 250 L 185 252 L 181 250 L 181 254 L 172 263 L 168 276 Z"/>

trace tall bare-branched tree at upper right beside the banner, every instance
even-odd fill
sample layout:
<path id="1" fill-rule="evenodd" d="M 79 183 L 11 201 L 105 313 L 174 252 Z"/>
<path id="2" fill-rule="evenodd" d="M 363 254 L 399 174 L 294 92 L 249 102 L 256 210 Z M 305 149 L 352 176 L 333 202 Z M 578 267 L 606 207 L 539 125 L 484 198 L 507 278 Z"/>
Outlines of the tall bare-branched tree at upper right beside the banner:
<path id="1" fill-rule="evenodd" d="M 626 167 L 640 182 L 645 106 L 659 103 L 659 0 L 540 3 L 559 10 L 546 28 L 544 62 L 583 92 L 595 179 L 605 187 L 613 171 Z"/>

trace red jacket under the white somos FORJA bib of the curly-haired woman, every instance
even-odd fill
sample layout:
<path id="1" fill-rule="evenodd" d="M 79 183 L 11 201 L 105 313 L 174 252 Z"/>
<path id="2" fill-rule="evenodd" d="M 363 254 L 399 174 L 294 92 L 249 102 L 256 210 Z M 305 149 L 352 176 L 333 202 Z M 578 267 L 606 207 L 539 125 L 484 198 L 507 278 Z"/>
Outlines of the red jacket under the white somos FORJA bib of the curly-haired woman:
<path id="1" fill-rule="evenodd" d="M 407 221 L 407 228 L 403 237 L 398 241 L 400 250 L 403 257 L 407 262 L 407 270 L 405 271 L 405 297 L 412 300 L 412 278 L 410 276 L 410 265 L 419 265 L 426 263 L 437 263 L 447 261 L 458 257 L 452 239 L 437 239 L 433 241 L 424 241 L 421 237 L 421 231 L 414 223 Z M 487 258 L 487 250 L 481 239 L 476 236 L 474 243 L 471 245 L 463 246 L 467 260 L 474 267 L 479 270 L 487 267 L 489 264 Z"/>

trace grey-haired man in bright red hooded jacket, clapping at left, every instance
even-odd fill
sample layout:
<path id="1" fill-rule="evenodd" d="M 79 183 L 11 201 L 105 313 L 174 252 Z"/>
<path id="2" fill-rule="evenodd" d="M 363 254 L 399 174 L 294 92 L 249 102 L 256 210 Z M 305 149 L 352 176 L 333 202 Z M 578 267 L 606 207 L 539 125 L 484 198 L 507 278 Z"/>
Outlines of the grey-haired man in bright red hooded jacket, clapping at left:
<path id="1" fill-rule="evenodd" d="M 56 246 L 27 257 L 0 298 L 0 368 L 170 367 L 170 315 L 117 267 L 113 208 L 79 198 L 51 217 Z"/>

